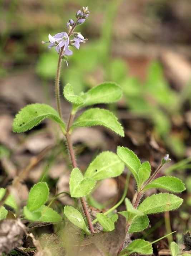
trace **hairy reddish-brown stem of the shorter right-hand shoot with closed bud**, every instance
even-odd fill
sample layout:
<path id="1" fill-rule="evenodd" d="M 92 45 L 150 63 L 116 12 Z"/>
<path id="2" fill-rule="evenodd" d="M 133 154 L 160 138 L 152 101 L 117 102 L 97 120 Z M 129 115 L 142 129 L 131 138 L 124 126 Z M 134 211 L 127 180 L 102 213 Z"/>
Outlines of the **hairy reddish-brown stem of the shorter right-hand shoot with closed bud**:
<path id="1" fill-rule="evenodd" d="M 141 189 L 141 191 L 139 191 L 139 192 L 137 193 L 137 197 L 136 197 L 136 200 L 135 200 L 134 205 L 133 205 L 134 208 L 137 208 L 138 205 L 139 205 L 139 202 L 140 202 L 141 197 L 142 197 L 142 195 L 143 195 L 142 190 L 145 188 L 146 185 L 148 185 L 151 181 L 153 181 L 153 180 L 155 179 L 156 175 L 157 175 L 158 172 L 161 170 L 161 168 L 162 168 L 163 165 L 164 165 L 164 163 L 161 162 L 160 165 L 158 166 L 158 168 L 156 169 L 156 171 L 155 171 L 155 172 L 152 174 L 152 176 L 145 182 L 145 184 L 144 184 L 143 188 Z M 130 236 L 129 236 L 129 238 L 128 238 L 128 229 L 129 229 L 129 227 L 130 227 L 130 224 L 127 223 L 127 225 L 126 225 L 126 236 L 125 236 L 125 239 L 124 239 L 124 241 L 122 242 L 122 244 L 121 244 L 121 246 L 120 246 L 120 248 L 119 248 L 119 251 L 118 251 L 117 255 L 119 255 L 120 252 L 123 250 L 124 243 L 125 243 L 125 242 L 128 243 L 128 240 L 130 239 Z"/>

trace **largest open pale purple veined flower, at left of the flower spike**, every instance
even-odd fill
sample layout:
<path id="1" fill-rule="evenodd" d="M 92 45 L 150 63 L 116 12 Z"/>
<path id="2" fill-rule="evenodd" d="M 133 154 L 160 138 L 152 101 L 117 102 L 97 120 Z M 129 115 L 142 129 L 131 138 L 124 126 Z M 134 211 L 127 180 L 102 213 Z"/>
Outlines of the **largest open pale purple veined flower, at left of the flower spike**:
<path id="1" fill-rule="evenodd" d="M 66 32 L 57 33 L 54 36 L 49 34 L 48 38 L 50 42 L 48 48 L 51 49 L 55 46 L 55 49 L 58 53 L 62 47 L 65 51 L 66 47 L 69 45 L 69 36 Z"/>

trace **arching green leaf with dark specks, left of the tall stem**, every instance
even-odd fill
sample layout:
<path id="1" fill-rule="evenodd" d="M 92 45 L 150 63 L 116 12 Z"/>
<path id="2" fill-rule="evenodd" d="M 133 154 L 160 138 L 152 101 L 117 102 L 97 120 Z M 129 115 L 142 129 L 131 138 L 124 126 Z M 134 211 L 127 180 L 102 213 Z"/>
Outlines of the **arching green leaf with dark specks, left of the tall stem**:
<path id="1" fill-rule="evenodd" d="M 13 121 L 14 132 L 26 132 L 38 125 L 45 118 L 50 118 L 59 123 L 63 129 L 65 124 L 60 119 L 58 112 L 46 104 L 30 104 L 20 110 Z"/>

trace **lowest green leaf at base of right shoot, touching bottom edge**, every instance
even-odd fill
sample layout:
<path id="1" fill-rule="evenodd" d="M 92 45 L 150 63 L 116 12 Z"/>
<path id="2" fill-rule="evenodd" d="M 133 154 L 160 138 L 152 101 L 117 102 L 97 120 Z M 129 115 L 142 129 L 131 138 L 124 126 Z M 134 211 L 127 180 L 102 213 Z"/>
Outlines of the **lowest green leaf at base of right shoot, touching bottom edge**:
<path id="1" fill-rule="evenodd" d="M 141 255 L 152 254 L 152 245 L 143 239 L 136 239 L 132 241 L 120 254 L 120 256 L 130 255 L 137 252 Z"/>

